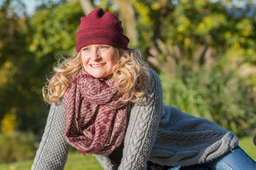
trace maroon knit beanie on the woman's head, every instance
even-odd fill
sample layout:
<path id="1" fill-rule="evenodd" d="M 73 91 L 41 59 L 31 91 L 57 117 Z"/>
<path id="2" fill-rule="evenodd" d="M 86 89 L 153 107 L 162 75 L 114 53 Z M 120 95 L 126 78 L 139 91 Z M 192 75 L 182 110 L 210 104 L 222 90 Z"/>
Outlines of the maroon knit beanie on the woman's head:
<path id="1" fill-rule="evenodd" d="M 115 14 L 94 9 L 86 17 L 81 17 L 81 24 L 76 34 L 76 52 L 87 45 L 105 44 L 128 49 L 129 39 L 123 34 L 121 21 Z"/>

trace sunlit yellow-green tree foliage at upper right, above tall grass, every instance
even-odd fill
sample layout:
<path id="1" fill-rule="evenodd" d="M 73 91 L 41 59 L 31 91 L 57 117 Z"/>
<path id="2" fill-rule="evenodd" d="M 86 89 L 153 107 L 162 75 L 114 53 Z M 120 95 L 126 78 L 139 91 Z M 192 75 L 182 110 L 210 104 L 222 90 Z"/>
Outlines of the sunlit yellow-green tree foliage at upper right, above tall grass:
<path id="1" fill-rule="evenodd" d="M 250 1 L 245 9 L 221 0 L 131 0 L 131 4 L 137 14 L 139 45 L 146 54 L 157 38 L 177 45 L 189 60 L 204 45 L 212 48 L 222 68 L 244 64 L 242 75 L 256 85 L 256 18 L 248 17 L 250 8 L 255 8 Z"/>

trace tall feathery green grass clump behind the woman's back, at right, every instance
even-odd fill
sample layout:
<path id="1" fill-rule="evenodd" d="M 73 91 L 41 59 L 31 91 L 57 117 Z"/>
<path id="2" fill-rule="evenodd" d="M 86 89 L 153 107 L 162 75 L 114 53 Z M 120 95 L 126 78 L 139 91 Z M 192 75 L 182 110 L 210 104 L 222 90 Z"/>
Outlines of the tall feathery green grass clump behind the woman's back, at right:
<path id="1" fill-rule="evenodd" d="M 154 57 L 148 60 L 160 68 L 166 105 L 207 118 L 238 136 L 256 128 L 253 88 L 232 69 L 220 69 L 210 49 L 198 50 L 190 61 L 177 47 L 157 42 L 161 51 L 151 48 Z"/>

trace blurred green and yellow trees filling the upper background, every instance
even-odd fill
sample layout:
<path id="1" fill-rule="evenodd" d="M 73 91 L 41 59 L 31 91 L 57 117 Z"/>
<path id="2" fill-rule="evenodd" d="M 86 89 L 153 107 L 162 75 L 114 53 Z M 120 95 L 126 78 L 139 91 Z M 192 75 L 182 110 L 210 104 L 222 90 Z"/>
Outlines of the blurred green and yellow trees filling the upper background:
<path id="1" fill-rule="evenodd" d="M 253 11 L 250 3 L 227 8 L 225 0 L 42 0 L 32 17 L 19 18 L 13 1 L 5 0 L 0 10 L 0 120 L 15 115 L 18 130 L 42 132 L 49 109 L 40 97 L 44 78 L 56 59 L 73 54 L 80 18 L 97 7 L 122 20 L 129 47 L 142 48 L 146 57 L 152 48 L 170 51 L 160 49 L 160 39 L 179 49 L 191 71 L 211 56 L 218 62 L 215 71 L 236 72 L 256 84 L 256 20 L 247 12 Z M 165 56 L 157 57 L 169 63 Z M 163 71 L 163 65 L 150 66 Z"/>

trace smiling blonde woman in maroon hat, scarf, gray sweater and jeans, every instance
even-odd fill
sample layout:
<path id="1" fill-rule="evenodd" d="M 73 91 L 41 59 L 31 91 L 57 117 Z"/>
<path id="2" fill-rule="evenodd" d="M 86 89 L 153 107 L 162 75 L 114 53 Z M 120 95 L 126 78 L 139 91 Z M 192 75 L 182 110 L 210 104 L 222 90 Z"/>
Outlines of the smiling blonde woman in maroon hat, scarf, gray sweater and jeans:
<path id="1" fill-rule="evenodd" d="M 158 75 L 128 42 L 111 12 L 81 18 L 78 54 L 44 87 L 52 105 L 32 170 L 62 170 L 70 145 L 104 170 L 255 170 L 233 133 L 163 105 Z"/>

